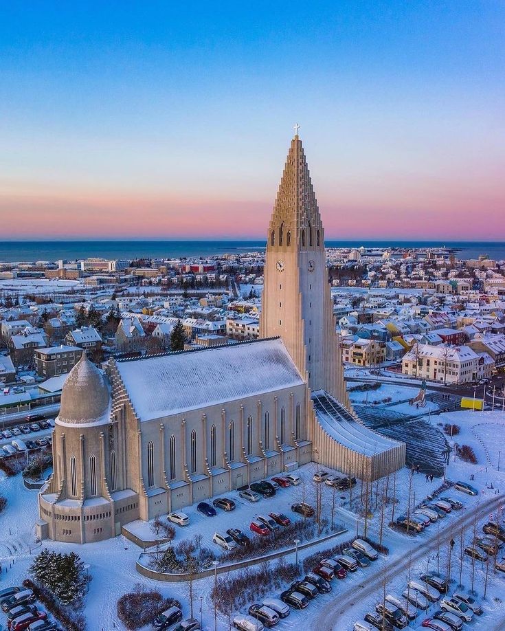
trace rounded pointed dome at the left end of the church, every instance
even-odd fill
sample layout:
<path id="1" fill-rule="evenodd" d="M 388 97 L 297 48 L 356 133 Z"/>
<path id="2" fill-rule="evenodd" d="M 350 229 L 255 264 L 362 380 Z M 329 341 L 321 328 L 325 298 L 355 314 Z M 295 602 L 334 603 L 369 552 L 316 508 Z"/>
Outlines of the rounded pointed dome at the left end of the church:
<path id="1" fill-rule="evenodd" d="M 106 377 L 82 351 L 63 385 L 57 422 L 64 425 L 107 423 L 110 399 Z"/>

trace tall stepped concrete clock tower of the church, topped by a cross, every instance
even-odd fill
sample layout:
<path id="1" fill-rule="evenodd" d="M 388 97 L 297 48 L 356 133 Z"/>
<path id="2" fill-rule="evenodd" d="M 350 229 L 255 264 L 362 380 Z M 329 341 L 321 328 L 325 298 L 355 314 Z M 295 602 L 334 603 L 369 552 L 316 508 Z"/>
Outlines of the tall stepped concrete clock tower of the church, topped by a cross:
<path id="1" fill-rule="evenodd" d="M 298 133 L 269 224 L 260 335 L 280 335 L 311 390 L 345 401 L 324 228 Z"/>

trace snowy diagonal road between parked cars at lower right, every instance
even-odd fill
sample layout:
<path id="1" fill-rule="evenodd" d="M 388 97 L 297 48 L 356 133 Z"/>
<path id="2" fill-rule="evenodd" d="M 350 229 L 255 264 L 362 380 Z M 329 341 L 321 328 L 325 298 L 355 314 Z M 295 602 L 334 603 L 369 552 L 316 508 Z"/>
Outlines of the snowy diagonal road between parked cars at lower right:
<path id="1" fill-rule="evenodd" d="M 475 518 L 476 512 L 478 513 L 478 519 L 481 519 L 489 515 L 489 513 L 493 511 L 493 509 L 497 508 L 499 505 L 502 505 L 503 502 L 504 498 L 502 495 L 493 496 L 489 500 L 482 502 L 481 505 L 469 510 L 468 513 L 466 513 L 464 516 L 464 528 L 467 529 L 468 527 L 473 526 L 473 520 Z M 455 522 L 452 522 L 452 525 L 456 525 Z M 459 518 L 457 525 L 459 531 Z M 447 527 L 445 527 L 445 529 L 440 533 L 440 544 L 442 546 L 444 544 L 449 544 L 451 538 L 456 538 L 454 534 L 454 529 L 450 527 L 450 524 L 447 524 Z M 379 565 L 373 575 L 370 575 L 370 573 L 368 573 L 366 575 L 366 579 L 363 580 L 363 582 L 359 583 L 358 585 L 354 584 L 348 590 L 340 592 L 338 595 L 338 599 L 335 599 L 335 601 L 330 601 L 326 606 L 324 606 L 317 617 L 313 619 L 313 628 L 319 629 L 319 631 L 331 631 L 335 628 L 339 616 L 346 614 L 348 610 L 350 610 L 350 608 L 359 604 L 364 599 L 377 594 L 377 601 L 379 601 L 379 595 L 381 594 L 381 590 L 383 589 L 384 571 L 386 575 L 386 581 L 388 583 L 391 583 L 394 579 L 398 578 L 401 573 L 407 571 L 409 562 L 415 564 L 416 562 L 424 559 L 428 553 L 436 550 L 437 546 L 437 538 L 432 537 L 431 539 L 420 543 L 420 545 L 416 549 L 414 549 L 414 551 L 412 551 L 411 555 L 404 555 L 400 559 L 398 557 L 394 557 L 385 565 L 385 567 L 383 565 Z"/>

